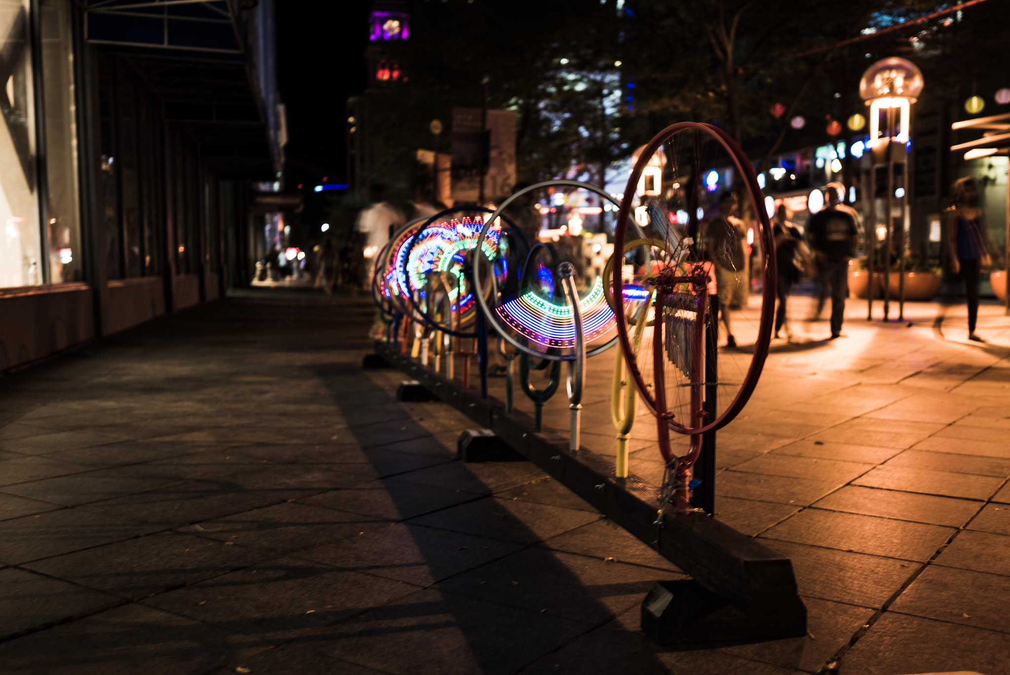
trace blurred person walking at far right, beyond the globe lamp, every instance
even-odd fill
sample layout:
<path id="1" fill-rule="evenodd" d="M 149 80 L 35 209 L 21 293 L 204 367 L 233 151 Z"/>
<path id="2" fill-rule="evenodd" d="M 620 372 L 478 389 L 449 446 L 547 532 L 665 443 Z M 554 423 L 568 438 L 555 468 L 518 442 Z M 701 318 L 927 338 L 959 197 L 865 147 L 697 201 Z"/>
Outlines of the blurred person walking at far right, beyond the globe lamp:
<path id="1" fill-rule="evenodd" d="M 945 212 L 943 244 L 946 253 L 944 285 L 965 281 L 968 301 L 968 339 L 984 343 L 975 333 L 979 320 L 979 277 L 993 264 L 990 251 L 996 251 L 986 212 L 979 208 L 979 187 L 973 178 L 960 178 L 953 184 L 953 205 Z M 949 301 L 940 303 L 940 314 L 933 327 L 939 330 Z M 941 333 L 942 334 L 942 333 Z"/>

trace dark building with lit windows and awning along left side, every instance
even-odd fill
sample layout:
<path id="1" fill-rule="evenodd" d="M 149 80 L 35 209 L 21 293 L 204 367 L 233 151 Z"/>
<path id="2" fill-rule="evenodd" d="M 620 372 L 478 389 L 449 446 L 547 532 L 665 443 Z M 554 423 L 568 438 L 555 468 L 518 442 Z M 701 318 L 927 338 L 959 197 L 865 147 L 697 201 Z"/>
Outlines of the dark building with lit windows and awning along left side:
<path id="1" fill-rule="evenodd" d="M 0 369 L 247 281 L 252 186 L 283 179 L 273 15 L 0 0 Z"/>

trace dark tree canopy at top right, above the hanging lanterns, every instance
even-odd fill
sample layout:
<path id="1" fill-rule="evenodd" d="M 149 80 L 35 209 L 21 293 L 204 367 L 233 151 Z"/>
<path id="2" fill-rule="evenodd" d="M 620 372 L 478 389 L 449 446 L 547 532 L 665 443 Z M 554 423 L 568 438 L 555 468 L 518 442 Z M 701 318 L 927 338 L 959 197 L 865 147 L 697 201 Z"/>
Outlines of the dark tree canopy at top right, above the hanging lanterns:
<path id="1" fill-rule="evenodd" d="M 984 7 L 971 11 L 995 10 Z M 938 10 L 947 13 L 922 19 Z M 663 116 L 666 123 L 716 123 L 744 148 L 760 149 L 764 169 L 792 132 L 796 114 L 843 120 L 846 110 L 862 104 L 853 95 L 870 58 L 915 52 L 917 63 L 928 62 L 920 66 L 949 65 L 967 45 L 950 47 L 971 34 L 951 23 L 950 10 L 936 0 L 635 3 L 632 56 L 626 59 L 636 85 L 635 112 Z M 999 23 L 1005 28 L 1006 18 Z M 895 25 L 903 27 L 889 30 Z M 995 31 L 990 41 L 995 51 Z"/>

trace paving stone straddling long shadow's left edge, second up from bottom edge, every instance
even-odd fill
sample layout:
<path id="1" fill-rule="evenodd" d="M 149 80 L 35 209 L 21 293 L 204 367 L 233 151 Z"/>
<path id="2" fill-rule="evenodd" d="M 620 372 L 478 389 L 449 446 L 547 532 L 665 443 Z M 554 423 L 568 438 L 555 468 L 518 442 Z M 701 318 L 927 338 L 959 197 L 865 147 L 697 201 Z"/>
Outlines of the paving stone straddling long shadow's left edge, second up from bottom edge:
<path id="1" fill-rule="evenodd" d="M 297 555 L 335 567 L 428 586 L 521 548 L 518 544 L 400 522 Z"/>

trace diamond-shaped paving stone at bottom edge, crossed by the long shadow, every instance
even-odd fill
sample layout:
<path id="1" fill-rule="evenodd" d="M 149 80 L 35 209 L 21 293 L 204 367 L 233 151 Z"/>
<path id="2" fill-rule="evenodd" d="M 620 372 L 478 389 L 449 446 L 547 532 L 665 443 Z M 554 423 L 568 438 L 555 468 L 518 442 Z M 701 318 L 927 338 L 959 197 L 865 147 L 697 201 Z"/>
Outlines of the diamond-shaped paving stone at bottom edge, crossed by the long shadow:
<path id="1" fill-rule="evenodd" d="M 430 589 L 320 630 L 310 645 L 395 675 L 505 675 L 588 629 L 547 612 Z"/>

